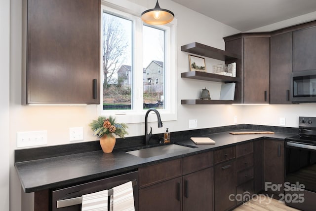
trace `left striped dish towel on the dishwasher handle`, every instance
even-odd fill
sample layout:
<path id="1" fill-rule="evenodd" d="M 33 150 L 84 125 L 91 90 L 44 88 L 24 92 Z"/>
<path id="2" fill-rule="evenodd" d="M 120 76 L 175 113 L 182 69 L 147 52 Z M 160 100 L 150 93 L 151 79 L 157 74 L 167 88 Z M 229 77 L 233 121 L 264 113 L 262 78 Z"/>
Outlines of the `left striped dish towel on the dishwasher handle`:
<path id="1" fill-rule="evenodd" d="M 81 211 L 108 211 L 108 190 L 82 195 Z"/>

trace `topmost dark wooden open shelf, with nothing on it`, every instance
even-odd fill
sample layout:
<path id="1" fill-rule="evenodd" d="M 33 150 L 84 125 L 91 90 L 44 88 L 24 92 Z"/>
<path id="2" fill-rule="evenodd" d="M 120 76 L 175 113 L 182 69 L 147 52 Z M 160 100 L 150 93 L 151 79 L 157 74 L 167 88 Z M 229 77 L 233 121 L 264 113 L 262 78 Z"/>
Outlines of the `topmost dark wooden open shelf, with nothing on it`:
<path id="1" fill-rule="evenodd" d="M 193 54 L 197 54 L 200 56 L 205 56 L 205 57 L 209 57 L 213 59 L 218 59 L 222 61 L 241 59 L 240 55 L 223 51 L 218 48 L 213 48 L 208 45 L 203 45 L 198 42 L 192 42 L 187 45 L 182 45 L 181 51 L 185 51 L 188 53 L 193 53 Z"/>

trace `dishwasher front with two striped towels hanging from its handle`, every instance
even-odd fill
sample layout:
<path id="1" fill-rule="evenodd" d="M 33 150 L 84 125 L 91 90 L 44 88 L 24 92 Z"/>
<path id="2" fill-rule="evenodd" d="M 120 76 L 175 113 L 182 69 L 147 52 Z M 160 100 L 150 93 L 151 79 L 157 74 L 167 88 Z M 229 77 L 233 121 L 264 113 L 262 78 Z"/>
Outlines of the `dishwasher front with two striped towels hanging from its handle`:
<path id="1" fill-rule="evenodd" d="M 81 211 L 82 195 L 111 189 L 128 181 L 133 183 L 134 205 L 138 211 L 138 171 L 52 190 L 52 211 Z"/>

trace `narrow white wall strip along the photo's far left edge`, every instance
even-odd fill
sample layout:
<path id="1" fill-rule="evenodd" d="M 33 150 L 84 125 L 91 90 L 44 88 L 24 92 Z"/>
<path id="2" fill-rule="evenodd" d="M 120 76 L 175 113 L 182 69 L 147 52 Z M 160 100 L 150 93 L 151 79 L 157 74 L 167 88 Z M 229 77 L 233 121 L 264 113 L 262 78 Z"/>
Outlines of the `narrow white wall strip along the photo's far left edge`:
<path id="1" fill-rule="evenodd" d="M 0 210 L 9 210 L 10 0 L 0 3 Z"/>

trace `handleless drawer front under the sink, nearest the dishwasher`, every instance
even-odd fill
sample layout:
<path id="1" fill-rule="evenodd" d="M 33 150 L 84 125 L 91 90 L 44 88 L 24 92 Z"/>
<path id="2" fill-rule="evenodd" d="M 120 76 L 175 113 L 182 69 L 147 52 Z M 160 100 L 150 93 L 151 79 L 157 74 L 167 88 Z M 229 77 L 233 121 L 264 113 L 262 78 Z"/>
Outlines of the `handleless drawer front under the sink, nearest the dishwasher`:
<path id="1" fill-rule="evenodd" d="M 140 188 L 182 176 L 181 159 L 139 168 L 138 175 Z"/>

